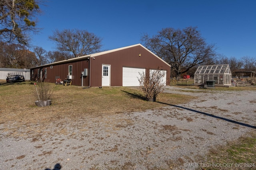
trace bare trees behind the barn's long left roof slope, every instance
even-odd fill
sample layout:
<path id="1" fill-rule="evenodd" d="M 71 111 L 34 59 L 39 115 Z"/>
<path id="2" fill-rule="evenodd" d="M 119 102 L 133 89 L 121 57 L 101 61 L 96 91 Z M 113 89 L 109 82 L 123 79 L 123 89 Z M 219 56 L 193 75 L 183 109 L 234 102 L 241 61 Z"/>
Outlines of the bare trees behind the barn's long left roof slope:
<path id="1" fill-rule="evenodd" d="M 102 39 L 86 30 L 56 30 L 49 38 L 56 42 L 56 51 L 46 51 L 42 47 L 29 51 L 28 46 L 21 43 L 0 42 L 0 67 L 31 68 L 97 53 L 102 47 Z"/>

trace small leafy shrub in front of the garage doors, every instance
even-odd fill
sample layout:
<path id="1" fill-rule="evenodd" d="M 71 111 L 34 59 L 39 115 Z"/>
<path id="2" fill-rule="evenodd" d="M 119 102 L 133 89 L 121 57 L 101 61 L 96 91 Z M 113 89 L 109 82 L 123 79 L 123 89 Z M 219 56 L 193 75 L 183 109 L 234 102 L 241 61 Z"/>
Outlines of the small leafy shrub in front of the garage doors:
<path id="1" fill-rule="evenodd" d="M 161 70 L 150 70 L 150 75 L 146 76 L 144 72 L 139 73 L 140 90 L 145 94 L 147 101 L 156 101 L 158 94 L 164 91 L 165 72 Z"/>

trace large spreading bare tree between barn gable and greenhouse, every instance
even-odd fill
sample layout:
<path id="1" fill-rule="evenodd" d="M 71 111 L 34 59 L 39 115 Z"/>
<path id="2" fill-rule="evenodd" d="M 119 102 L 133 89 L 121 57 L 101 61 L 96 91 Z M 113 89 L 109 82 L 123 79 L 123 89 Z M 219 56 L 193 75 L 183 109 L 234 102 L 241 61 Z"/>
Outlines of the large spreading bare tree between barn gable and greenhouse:
<path id="1" fill-rule="evenodd" d="M 152 37 L 145 34 L 141 40 L 146 48 L 171 65 L 177 78 L 215 57 L 215 45 L 207 45 L 197 27 L 165 28 Z"/>

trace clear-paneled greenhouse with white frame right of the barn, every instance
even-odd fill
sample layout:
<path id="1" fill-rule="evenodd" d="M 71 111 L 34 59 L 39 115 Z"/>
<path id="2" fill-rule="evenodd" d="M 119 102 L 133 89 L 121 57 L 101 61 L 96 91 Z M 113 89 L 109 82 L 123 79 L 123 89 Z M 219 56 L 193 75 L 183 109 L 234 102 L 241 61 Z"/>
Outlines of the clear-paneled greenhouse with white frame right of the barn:
<path id="1" fill-rule="evenodd" d="M 198 66 L 194 84 L 206 84 L 206 81 L 215 80 L 216 86 L 231 86 L 231 78 L 228 64 Z"/>

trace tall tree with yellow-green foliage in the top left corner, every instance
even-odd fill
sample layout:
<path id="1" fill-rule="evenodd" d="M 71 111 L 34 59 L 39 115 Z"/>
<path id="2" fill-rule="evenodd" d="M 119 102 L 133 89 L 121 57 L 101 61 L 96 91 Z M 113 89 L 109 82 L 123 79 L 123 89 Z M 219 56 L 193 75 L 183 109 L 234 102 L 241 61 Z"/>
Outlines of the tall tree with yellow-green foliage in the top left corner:
<path id="1" fill-rule="evenodd" d="M 36 32 L 39 0 L 0 0 L 0 39 L 28 45 L 29 32 Z"/>

